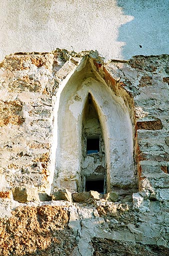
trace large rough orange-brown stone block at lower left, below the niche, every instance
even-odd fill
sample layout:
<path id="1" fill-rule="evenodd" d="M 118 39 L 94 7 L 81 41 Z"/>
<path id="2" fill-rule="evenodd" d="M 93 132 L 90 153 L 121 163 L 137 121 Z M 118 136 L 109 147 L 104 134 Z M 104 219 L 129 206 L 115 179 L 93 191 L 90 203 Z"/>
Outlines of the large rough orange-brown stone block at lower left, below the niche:
<path id="1" fill-rule="evenodd" d="M 61 206 L 17 208 L 0 221 L 0 255 L 68 255 L 76 245 L 68 215 Z"/>

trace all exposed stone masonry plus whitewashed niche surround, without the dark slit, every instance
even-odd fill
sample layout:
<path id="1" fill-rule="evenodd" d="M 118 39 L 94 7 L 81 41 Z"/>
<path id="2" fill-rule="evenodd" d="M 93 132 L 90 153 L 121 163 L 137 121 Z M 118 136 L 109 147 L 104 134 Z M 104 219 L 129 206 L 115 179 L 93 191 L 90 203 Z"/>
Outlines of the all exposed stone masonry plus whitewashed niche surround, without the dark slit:
<path id="1" fill-rule="evenodd" d="M 5 57 L 0 255 L 168 255 L 168 84 L 168 55 L 103 63 L 97 52 L 57 49 Z M 86 91 L 104 140 L 104 194 L 85 191 L 82 176 L 102 164 L 98 153 L 81 164 Z"/>

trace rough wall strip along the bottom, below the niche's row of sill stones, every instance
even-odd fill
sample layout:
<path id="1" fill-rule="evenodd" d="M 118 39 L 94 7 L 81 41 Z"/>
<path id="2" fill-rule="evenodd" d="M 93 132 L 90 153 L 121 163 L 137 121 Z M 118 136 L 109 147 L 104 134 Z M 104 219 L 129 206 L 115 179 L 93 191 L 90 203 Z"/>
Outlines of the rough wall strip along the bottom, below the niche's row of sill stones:
<path id="1" fill-rule="evenodd" d="M 103 199 L 20 204 L 0 219 L 0 255 L 167 256 L 168 223 L 169 213 L 157 201 L 145 212 Z"/>

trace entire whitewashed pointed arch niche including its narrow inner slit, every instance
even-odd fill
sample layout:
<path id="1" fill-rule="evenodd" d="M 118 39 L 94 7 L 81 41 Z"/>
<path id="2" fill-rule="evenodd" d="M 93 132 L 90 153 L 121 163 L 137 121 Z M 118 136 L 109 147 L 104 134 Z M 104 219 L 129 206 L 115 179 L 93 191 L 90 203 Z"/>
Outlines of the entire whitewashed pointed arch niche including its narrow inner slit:
<path id="1" fill-rule="evenodd" d="M 52 190 L 106 193 L 136 184 L 127 107 L 93 65 L 85 57 L 57 97 Z"/>

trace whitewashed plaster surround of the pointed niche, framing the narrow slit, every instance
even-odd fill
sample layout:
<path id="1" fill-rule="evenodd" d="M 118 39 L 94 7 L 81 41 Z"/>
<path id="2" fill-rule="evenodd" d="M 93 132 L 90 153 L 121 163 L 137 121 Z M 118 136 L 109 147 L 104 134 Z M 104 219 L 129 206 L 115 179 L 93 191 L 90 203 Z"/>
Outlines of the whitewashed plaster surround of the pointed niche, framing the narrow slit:
<path id="1" fill-rule="evenodd" d="M 82 113 L 88 93 L 98 108 L 103 133 L 107 189 L 112 186 L 134 186 L 132 126 L 127 108 L 122 98 L 115 96 L 105 82 L 93 74 L 90 64 L 85 62 L 81 62 L 57 99 L 57 130 L 53 128 L 53 137 L 57 137 L 54 187 L 68 187 L 74 192 L 81 186 L 78 181 L 81 171 Z"/>

